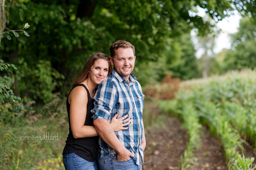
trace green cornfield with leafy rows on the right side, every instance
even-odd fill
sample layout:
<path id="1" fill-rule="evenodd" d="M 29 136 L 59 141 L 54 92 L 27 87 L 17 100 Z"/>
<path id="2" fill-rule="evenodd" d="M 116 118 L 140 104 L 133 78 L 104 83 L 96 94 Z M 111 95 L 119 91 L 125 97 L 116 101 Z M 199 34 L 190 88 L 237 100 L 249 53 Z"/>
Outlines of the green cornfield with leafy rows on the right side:
<path id="1" fill-rule="evenodd" d="M 178 114 L 188 130 L 189 143 L 180 162 L 181 169 L 194 163 L 193 151 L 200 147 L 202 125 L 216 135 L 229 169 L 247 170 L 254 158 L 245 158 L 243 142 L 256 145 L 256 70 L 233 71 L 207 80 L 180 84 L 175 99 L 158 100 L 164 112 Z M 199 143 L 199 145 L 198 145 Z"/>

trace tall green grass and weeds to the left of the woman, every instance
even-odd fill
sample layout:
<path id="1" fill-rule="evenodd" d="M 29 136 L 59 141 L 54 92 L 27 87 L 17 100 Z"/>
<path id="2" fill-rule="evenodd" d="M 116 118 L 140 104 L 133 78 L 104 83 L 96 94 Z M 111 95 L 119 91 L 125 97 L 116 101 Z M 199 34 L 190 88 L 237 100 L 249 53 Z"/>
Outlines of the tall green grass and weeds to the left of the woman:
<path id="1" fill-rule="evenodd" d="M 67 138 L 66 105 L 56 96 L 38 109 L 31 101 L 24 110 L 0 126 L 0 169 L 61 169 L 61 153 Z M 2 106 L 3 107 L 3 106 Z M 5 112 L 5 114 L 12 114 Z M 8 118 L 8 117 L 7 117 Z M 57 136 L 59 140 L 33 140 L 32 136 Z M 27 137 L 27 138 L 22 138 Z M 32 140 L 28 140 L 29 139 Z M 23 140 L 22 140 L 23 139 Z M 44 143 L 46 142 L 46 143 Z"/>

